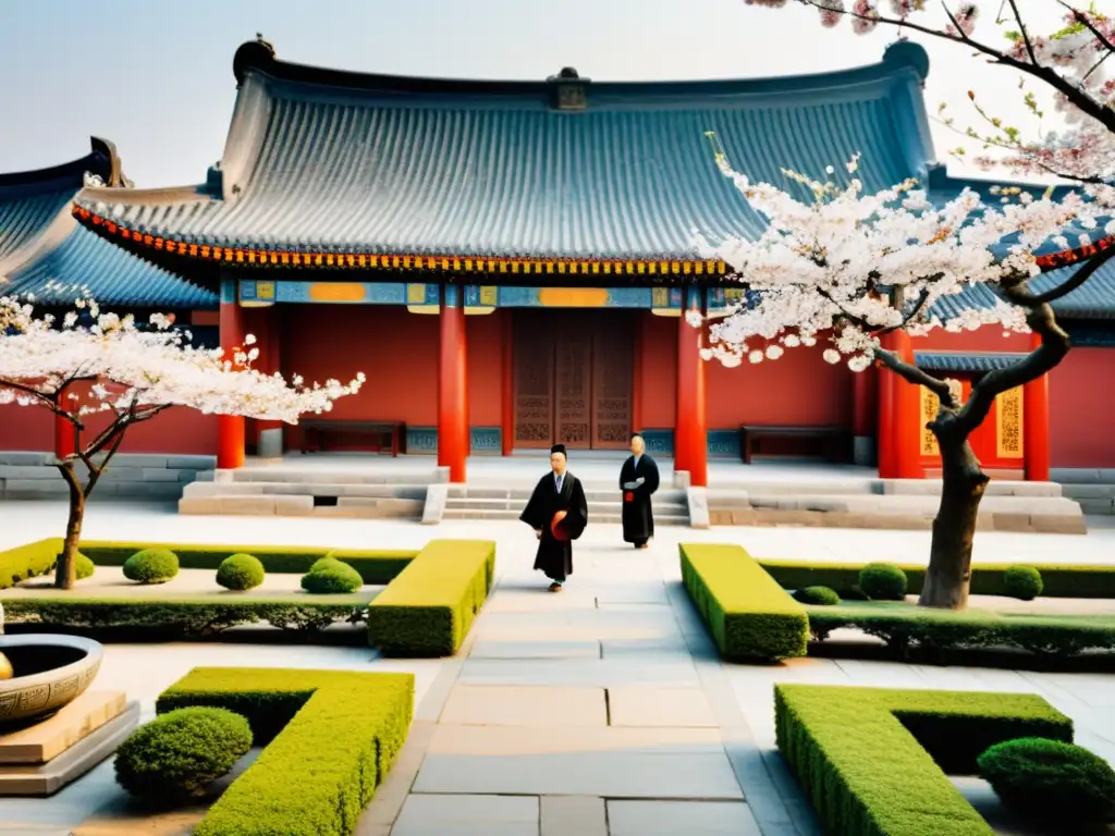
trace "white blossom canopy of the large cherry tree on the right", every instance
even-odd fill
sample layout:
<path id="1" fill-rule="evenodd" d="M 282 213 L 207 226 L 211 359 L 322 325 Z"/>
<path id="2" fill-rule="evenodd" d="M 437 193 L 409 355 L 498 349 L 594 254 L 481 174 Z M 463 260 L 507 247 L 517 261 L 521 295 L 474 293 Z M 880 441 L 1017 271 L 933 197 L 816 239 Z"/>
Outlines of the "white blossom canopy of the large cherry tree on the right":
<path id="1" fill-rule="evenodd" d="M 959 332 L 987 324 L 1025 332 L 1025 311 L 999 295 L 987 308 L 964 309 L 942 320 L 941 299 L 972 284 L 992 289 L 1025 282 L 1040 271 L 1034 250 L 1069 223 L 1096 226 L 1092 205 L 1070 193 L 1059 201 L 1026 192 L 1015 202 L 987 206 L 966 189 L 943 204 L 931 204 L 913 181 L 876 194 L 864 194 L 855 176 L 859 161 L 846 168 L 849 185 L 821 182 L 795 172 L 784 174 L 812 194 L 803 202 L 766 183 L 753 183 L 721 157 L 721 172 L 768 221 L 755 241 L 727 239 L 710 243 L 699 233 L 701 257 L 731 266 L 738 281 L 755 291 L 709 329 L 706 359 L 728 366 L 776 360 L 784 349 L 832 344 L 828 362 L 847 357 L 862 371 L 871 364 L 881 332 L 902 328 L 923 334 L 934 328 Z M 699 314 L 689 315 L 700 324 Z"/>

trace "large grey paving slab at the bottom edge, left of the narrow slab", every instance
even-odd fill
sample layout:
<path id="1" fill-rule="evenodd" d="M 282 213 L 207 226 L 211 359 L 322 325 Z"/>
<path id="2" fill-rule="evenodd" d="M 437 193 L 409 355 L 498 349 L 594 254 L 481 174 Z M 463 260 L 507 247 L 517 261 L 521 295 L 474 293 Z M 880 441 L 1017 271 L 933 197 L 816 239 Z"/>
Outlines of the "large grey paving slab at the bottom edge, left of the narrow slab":
<path id="1" fill-rule="evenodd" d="M 423 795 L 407 798 L 391 836 L 539 836 L 534 796 Z"/>

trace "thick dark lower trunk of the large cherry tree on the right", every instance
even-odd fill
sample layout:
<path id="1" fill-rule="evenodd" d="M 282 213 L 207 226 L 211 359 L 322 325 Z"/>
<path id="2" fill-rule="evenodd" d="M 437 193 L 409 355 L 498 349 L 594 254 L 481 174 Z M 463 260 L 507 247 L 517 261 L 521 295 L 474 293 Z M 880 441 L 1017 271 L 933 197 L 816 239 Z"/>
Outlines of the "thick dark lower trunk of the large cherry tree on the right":
<path id="1" fill-rule="evenodd" d="M 943 482 L 941 505 L 933 521 L 929 571 L 918 604 L 963 610 L 968 606 L 976 516 L 989 479 L 972 453 L 967 435 L 946 435 L 943 438 L 938 435 L 938 444 Z"/>

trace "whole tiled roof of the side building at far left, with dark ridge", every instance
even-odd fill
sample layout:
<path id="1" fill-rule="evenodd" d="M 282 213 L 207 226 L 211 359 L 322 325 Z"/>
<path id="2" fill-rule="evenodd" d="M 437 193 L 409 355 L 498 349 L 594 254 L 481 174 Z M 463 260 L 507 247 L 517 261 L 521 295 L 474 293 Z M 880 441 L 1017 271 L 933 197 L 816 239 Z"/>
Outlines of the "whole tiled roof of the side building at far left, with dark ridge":
<path id="1" fill-rule="evenodd" d="M 54 168 L 0 175 L 0 295 L 72 304 L 91 295 L 105 305 L 215 308 L 217 297 L 78 225 L 69 206 L 85 175 L 127 184 L 110 143 Z"/>

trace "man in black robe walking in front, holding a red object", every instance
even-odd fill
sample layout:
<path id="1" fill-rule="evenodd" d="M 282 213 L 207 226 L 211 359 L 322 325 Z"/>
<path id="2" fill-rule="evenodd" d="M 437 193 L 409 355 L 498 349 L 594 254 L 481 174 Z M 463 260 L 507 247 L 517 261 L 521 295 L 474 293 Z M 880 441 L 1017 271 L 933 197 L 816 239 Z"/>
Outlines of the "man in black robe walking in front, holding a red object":
<path id="1" fill-rule="evenodd" d="M 565 469 L 564 445 L 550 450 L 550 473 L 543 476 L 518 517 L 539 537 L 534 568 L 551 580 L 550 591 L 561 592 L 565 577 L 573 574 L 573 541 L 589 524 L 589 504 L 581 480 Z"/>

